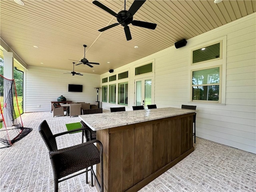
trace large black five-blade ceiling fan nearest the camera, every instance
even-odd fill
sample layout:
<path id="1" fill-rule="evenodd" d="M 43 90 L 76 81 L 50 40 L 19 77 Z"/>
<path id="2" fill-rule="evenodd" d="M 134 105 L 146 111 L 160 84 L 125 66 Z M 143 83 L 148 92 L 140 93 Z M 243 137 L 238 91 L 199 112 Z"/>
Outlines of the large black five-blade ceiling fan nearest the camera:
<path id="1" fill-rule="evenodd" d="M 128 24 L 132 24 L 134 26 L 144 27 L 144 28 L 148 28 L 148 29 L 155 29 L 156 28 L 155 23 L 133 20 L 134 14 L 139 10 L 139 8 L 144 4 L 145 1 L 146 0 L 134 0 L 132 5 L 130 6 L 129 10 L 127 11 L 127 10 L 125 10 L 125 0 L 124 0 L 124 10 L 120 11 L 117 14 L 114 11 L 112 11 L 110 8 L 106 7 L 104 4 L 94 0 L 92 2 L 94 5 L 98 6 L 99 8 L 103 9 L 104 11 L 112 14 L 113 16 L 116 17 L 116 19 L 118 21 L 118 23 L 114 23 L 112 25 L 106 26 L 98 31 L 103 32 L 107 29 L 110 29 L 114 26 L 118 26 L 119 24 L 121 24 L 122 26 L 124 26 L 124 33 L 126 36 L 126 40 L 131 40 L 132 35 L 131 35 L 130 28 L 129 28 Z"/>

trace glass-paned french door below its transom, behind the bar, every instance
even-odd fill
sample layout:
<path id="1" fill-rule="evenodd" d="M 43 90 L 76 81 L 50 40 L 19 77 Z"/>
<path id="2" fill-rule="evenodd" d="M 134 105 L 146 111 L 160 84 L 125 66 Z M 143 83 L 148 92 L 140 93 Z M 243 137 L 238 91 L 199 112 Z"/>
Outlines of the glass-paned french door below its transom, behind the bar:
<path id="1" fill-rule="evenodd" d="M 147 109 L 147 105 L 154 104 L 154 84 L 152 77 L 135 80 L 134 98 L 135 106 L 143 105 Z"/>

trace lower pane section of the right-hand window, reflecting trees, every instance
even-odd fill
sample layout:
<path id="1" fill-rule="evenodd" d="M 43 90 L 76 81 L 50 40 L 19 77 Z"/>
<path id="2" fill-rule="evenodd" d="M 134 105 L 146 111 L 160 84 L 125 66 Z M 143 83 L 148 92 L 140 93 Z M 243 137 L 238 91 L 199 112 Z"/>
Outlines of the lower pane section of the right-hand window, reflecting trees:
<path id="1" fill-rule="evenodd" d="M 192 101 L 220 102 L 221 66 L 192 71 Z"/>

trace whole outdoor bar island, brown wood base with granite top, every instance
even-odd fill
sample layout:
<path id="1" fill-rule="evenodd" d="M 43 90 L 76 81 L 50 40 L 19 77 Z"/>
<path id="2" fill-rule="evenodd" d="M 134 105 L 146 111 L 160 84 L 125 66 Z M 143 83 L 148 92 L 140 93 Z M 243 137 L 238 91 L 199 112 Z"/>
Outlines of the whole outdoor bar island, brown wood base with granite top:
<path id="1" fill-rule="evenodd" d="M 157 108 L 80 115 L 103 144 L 104 191 L 136 192 L 193 152 L 194 114 Z"/>

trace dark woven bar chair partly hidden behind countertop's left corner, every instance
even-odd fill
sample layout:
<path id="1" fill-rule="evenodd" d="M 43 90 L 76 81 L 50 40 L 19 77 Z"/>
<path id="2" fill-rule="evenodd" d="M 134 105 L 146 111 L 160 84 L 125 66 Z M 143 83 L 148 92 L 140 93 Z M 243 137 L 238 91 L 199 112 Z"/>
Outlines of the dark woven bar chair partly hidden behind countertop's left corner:
<path id="1" fill-rule="evenodd" d="M 83 115 L 96 114 L 96 113 L 102 113 L 102 108 L 82 109 Z M 96 131 L 93 131 L 91 128 L 86 126 L 86 124 L 83 121 L 80 121 L 80 123 L 82 124 L 82 127 L 84 127 L 86 130 L 88 130 L 88 131 L 82 131 L 82 142 L 84 142 L 84 136 L 85 136 L 86 142 L 96 139 Z"/>

